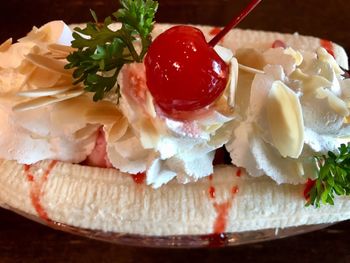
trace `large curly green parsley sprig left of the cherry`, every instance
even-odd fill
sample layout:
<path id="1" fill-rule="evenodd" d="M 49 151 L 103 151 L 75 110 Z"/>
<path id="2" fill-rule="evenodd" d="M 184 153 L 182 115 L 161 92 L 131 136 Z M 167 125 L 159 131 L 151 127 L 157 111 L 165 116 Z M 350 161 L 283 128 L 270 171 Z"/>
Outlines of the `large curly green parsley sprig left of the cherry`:
<path id="1" fill-rule="evenodd" d="M 85 90 L 94 92 L 94 101 L 104 97 L 116 87 L 120 97 L 117 76 L 124 64 L 141 62 L 152 42 L 151 32 L 158 3 L 152 0 L 120 0 L 122 6 L 103 24 L 98 23 L 96 13 L 91 10 L 94 22 L 85 28 L 75 28 L 72 47 L 77 51 L 68 57 L 66 69 L 74 69 L 74 84 L 83 82 Z M 110 25 L 122 24 L 113 31 Z M 135 43 L 141 44 L 138 49 Z"/>

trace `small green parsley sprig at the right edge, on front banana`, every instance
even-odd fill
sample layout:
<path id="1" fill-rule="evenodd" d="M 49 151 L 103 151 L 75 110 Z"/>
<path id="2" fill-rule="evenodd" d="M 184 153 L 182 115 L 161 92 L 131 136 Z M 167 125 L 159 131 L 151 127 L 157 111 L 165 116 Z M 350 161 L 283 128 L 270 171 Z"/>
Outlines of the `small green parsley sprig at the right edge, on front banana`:
<path id="1" fill-rule="evenodd" d="M 334 195 L 350 195 L 350 144 L 342 144 L 338 152 L 315 156 L 318 177 L 309 191 L 306 205 L 320 207 L 334 204 Z"/>

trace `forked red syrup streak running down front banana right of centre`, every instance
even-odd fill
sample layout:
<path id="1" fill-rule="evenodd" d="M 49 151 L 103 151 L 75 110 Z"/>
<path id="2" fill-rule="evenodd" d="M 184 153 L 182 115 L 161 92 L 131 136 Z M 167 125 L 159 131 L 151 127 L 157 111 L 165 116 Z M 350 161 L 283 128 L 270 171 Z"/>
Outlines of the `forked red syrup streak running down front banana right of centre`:
<path id="1" fill-rule="evenodd" d="M 233 186 L 231 188 L 231 199 L 218 203 L 215 201 L 216 190 L 213 186 L 213 175 L 209 176 L 210 186 L 208 188 L 208 194 L 210 199 L 213 201 L 213 206 L 216 211 L 216 219 L 213 225 L 213 234 L 204 236 L 205 239 L 209 240 L 209 247 L 220 247 L 228 243 L 228 237 L 225 234 L 228 213 L 232 207 L 232 199 L 236 193 L 238 193 L 238 186 Z"/>

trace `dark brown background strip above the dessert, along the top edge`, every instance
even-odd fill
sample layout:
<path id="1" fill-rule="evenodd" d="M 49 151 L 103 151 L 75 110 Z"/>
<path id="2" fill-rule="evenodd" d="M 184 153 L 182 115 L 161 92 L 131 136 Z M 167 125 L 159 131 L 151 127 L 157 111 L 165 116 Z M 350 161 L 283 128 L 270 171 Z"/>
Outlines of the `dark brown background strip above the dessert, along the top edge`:
<path id="1" fill-rule="evenodd" d="M 159 0 L 158 22 L 225 25 L 248 0 Z M 118 7 L 118 0 L 2 0 L 0 41 L 18 38 L 33 25 L 50 20 L 90 21 L 89 9 L 101 18 Z M 299 32 L 331 39 L 350 48 L 348 0 L 263 0 L 241 28 Z"/>

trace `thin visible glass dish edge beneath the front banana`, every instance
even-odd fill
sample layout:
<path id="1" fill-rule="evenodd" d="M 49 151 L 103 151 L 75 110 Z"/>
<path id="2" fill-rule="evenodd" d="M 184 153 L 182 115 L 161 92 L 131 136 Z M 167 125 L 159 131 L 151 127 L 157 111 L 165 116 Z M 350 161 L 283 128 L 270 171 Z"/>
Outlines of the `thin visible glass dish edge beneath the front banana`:
<path id="1" fill-rule="evenodd" d="M 333 224 L 303 225 L 297 227 L 288 227 L 284 229 L 264 229 L 258 231 L 247 231 L 239 233 L 221 233 L 210 235 L 182 235 L 182 236 L 144 236 L 132 235 L 127 233 L 102 232 L 93 229 L 83 229 L 55 221 L 44 221 L 37 216 L 33 216 L 22 211 L 9 208 L 7 209 L 24 216 L 32 221 L 41 223 L 50 228 L 79 235 L 86 238 L 96 239 L 104 242 L 118 245 L 128 245 L 136 247 L 153 248 L 215 248 L 226 246 L 238 246 L 275 239 L 291 237 L 320 230 Z"/>

